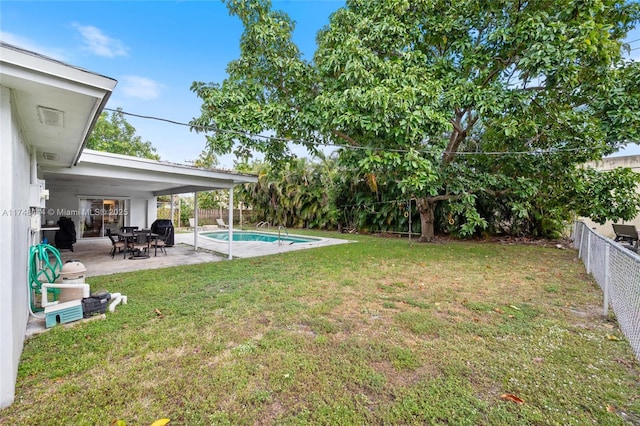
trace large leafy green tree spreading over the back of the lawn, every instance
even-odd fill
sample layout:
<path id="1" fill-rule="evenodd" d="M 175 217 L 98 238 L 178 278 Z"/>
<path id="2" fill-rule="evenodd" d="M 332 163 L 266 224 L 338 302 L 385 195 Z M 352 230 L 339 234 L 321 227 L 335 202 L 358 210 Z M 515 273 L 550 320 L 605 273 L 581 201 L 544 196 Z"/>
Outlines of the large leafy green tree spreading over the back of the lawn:
<path id="1" fill-rule="evenodd" d="M 441 202 L 462 235 L 486 226 L 486 197 L 519 219 L 636 214 L 628 170 L 582 165 L 640 140 L 640 67 L 622 60 L 637 3 L 348 0 L 313 62 L 269 1 L 227 5 L 245 27 L 241 56 L 221 85 L 192 86 L 203 100 L 192 124 L 220 129 L 208 136 L 217 152 L 236 143 L 276 160 L 286 139 L 344 145 L 353 168 L 416 200 L 425 241 Z M 276 138 L 254 136 L 268 130 Z"/>

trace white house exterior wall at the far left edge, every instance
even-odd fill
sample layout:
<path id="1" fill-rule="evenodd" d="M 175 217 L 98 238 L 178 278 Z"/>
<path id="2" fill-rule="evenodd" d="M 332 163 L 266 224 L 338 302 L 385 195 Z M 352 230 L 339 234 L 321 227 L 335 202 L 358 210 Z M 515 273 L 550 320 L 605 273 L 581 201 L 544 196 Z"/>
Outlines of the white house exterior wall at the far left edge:
<path id="1" fill-rule="evenodd" d="M 31 162 L 9 89 L 0 87 L 0 408 L 15 396 L 28 313 Z"/>

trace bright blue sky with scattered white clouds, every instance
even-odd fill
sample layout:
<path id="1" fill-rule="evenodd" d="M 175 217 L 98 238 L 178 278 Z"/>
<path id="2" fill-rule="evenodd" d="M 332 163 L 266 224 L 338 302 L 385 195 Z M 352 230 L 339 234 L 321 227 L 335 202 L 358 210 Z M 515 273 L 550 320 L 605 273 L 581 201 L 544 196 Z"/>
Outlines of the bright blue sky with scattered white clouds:
<path id="1" fill-rule="evenodd" d="M 305 59 L 315 36 L 342 0 L 272 0 L 296 21 L 294 41 Z M 107 108 L 188 123 L 202 104 L 194 81 L 221 83 L 226 66 L 239 57 L 242 25 L 216 0 L 0 1 L 0 39 L 53 57 L 118 84 Z M 630 58 L 640 60 L 640 30 L 627 37 Z M 157 120 L 125 115 L 162 160 L 188 163 L 205 148 L 205 137 Z M 299 155 L 305 155 L 299 151 Z M 617 155 L 640 154 L 632 145 Z M 219 167 L 233 168 L 233 156 Z"/>

